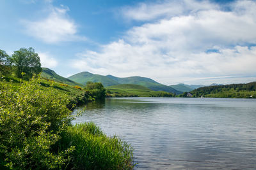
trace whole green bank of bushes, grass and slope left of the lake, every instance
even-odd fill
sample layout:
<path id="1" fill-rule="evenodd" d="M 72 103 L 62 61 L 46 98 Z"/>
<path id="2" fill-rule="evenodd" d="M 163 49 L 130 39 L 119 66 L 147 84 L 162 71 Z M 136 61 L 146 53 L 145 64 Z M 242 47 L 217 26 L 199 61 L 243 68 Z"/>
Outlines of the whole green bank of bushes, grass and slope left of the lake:
<path id="1" fill-rule="evenodd" d="M 80 91 L 40 78 L 1 77 L 0 169 L 132 169 L 130 145 L 92 123 L 70 123 L 67 106 L 86 92 Z"/>

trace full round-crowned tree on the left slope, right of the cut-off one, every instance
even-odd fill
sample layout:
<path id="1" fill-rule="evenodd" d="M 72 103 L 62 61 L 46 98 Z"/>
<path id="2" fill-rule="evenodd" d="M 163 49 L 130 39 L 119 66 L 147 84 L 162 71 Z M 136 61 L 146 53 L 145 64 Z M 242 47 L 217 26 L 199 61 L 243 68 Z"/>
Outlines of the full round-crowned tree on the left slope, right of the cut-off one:
<path id="1" fill-rule="evenodd" d="M 39 74 L 42 71 L 40 58 L 33 48 L 20 48 L 15 51 L 11 57 L 15 73 L 18 78 L 22 78 L 22 72 L 26 78 L 31 78 L 33 74 Z"/>

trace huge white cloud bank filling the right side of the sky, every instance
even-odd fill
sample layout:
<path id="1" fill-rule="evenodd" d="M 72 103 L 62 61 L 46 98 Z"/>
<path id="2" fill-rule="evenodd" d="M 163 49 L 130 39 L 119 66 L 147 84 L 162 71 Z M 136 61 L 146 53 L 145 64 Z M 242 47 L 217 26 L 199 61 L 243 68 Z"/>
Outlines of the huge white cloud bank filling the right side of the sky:
<path id="1" fill-rule="evenodd" d="M 166 84 L 255 76 L 256 47 L 248 44 L 256 44 L 256 2 L 236 1 L 226 7 L 230 10 L 209 1 L 184 0 L 123 8 L 126 18 L 145 24 L 98 52 L 77 54 L 73 66 L 97 74 L 147 76 Z"/>

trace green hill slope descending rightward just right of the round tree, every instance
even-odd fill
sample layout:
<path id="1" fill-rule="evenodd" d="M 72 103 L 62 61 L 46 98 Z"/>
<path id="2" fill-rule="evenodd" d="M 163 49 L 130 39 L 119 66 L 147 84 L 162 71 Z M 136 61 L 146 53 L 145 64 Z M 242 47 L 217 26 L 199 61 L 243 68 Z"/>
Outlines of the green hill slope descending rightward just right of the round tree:
<path id="1" fill-rule="evenodd" d="M 54 81 L 57 81 L 57 82 L 65 83 L 65 84 L 71 85 L 71 86 L 78 85 L 80 87 L 84 87 L 80 83 L 77 83 L 75 81 L 69 80 L 68 78 L 60 76 L 60 75 L 56 74 L 53 70 L 51 70 L 49 68 L 45 68 L 45 67 L 42 68 L 41 77 L 42 78 L 47 78 L 49 80 L 54 80 Z"/>

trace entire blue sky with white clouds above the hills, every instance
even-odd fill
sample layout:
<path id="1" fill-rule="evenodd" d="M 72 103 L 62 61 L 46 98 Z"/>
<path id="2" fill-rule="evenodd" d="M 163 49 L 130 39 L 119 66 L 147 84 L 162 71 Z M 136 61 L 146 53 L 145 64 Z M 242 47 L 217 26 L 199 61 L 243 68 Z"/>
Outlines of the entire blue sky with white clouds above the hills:
<path id="1" fill-rule="evenodd" d="M 0 49 L 165 85 L 256 81 L 256 1 L 0 0 Z"/>

